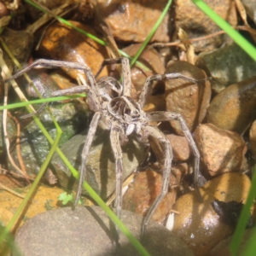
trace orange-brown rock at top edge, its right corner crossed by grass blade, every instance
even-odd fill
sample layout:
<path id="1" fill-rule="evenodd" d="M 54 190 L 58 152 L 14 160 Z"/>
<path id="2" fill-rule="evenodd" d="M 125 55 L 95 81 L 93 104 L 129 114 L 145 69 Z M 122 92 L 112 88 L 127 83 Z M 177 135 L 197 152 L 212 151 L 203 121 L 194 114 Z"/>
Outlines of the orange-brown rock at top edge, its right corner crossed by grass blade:
<path id="1" fill-rule="evenodd" d="M 159 19 L 166 6 L 165 0 L 154 1 L 97 1 L 101 9 L 102 19 L 108 24 L 113 37 L 122 41 L 141 43 Z M 166 14 L 151 41 L 169 42 L 168 36 L 169 15 Z"/>

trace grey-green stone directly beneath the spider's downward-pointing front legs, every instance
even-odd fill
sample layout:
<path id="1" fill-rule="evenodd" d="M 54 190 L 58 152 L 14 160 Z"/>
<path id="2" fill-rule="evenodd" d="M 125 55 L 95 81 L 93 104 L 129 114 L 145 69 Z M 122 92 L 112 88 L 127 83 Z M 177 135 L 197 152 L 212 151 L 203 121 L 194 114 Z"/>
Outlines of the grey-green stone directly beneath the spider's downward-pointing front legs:
<path id="1" fill-rule="evenodd" d="M 81 153 L 87 132 L 86 130 L 72 137 L 61 147 L 63 154 L 66 155 L 72 166 L 77 170 L 79 170 L 81 165 Z M 137 166 L 144 160 L 143 143 L 138 143 L 136 137 L 130 137 L 129 139 L 129 143 L 122 146 L 123 180 L 131 172 L 134 172 Z M 72 173 L 57 154 L 54 155 L 51 163 L 55 168 L 61 186 L 69 189 L 72 187 L 74 190 L 77 190 L 78 181 L 74 180 Z M 102 131 L 100 128 L 96 131 L 96 136 L 90 147 L 90 153 L 86 162 L 85 180 L 96 190 L 98 195 L 101 195 L 102 199 L 106 199 L 115 189 L 115 163 L 109 131 Z"/>

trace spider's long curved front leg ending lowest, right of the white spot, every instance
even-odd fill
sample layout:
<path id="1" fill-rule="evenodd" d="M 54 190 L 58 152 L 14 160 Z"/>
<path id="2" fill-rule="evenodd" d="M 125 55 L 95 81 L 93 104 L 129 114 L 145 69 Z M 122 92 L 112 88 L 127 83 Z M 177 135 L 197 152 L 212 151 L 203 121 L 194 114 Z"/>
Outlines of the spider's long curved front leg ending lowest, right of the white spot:
<path id="1" fill-rule="evenodd" d="M 154 126 L 146 126 L 144 127 L 145 131 L 147 131 L 149 137 L 154 137 L 160 143 L 162 143 L 165 147 L 165 163 L 163 170 L 163 181 L 161 186 L 160 195 L 155 199 L 153 205 L 148 209 L 148 213 L 146 217 L 143 219 L 142 229 L 141 229 L 141 241 L 143 241 L 143 237 L 145 234 L 146 227 L 148 225 L 148 221 L 154 214 L 156 208 L 159 206 L 160 201 L 162 201 L 163 197 L 166 195 L 169 188 L 169 179 L 171 174 L 172 167 L 172 145 L 170 141 L 166 138 L 162 131 Z"/>

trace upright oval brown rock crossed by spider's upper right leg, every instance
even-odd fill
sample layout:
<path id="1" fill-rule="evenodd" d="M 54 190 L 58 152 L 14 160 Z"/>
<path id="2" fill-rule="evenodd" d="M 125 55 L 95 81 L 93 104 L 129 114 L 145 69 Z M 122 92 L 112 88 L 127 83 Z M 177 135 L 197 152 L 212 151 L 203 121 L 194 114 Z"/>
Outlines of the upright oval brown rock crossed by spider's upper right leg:
<path id="1" fill-rule="evenodd" d="M 191 79 L 206 79 L 206 73 L 185 61 L 170 61 L 166 67 L 166 73 L 181 73 Z M 170 79 L 166 84 L 166 110 L 180 113 L 189 131 L 194 131 L 207 113 L 207 107 L 211 98 L 211 84 L 201 81 L 197 84 L 185 79 Z M 170 121 L 178 135 L 183 136 L 179 122 Z"/>

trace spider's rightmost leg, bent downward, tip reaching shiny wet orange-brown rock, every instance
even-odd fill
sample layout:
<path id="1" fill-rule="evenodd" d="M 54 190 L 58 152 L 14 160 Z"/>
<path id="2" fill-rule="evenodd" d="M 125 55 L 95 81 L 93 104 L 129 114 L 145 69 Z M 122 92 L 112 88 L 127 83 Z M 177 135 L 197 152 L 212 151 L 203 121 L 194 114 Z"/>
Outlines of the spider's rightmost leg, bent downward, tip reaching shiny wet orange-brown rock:
<path id="1" fill-rule="evenodd" d="M 169 121 L 172 119 L 176 119 L 179 121 L 179 124 L 183 130 L 184 136 L 187 138 L 190 148 L 193 151 L 193 154 L 195 156 L 195 166 L 194 166 L 194 184 L 195 184 L 195 191 L 198 195 L 198 199 L 200 202 L 202 202 L 202 197 L 200 190 L 198 188 L 198 177 L 199 177 L 199 163 L 200 163 L 200 154 L 198 151 L 198 148 L 196 147 L 195 141 L 191 135 L 191 132 L 189 131 L 189 127 L 186 124 L 186 121 L 183 119 L 183 116 L 180 113 L 172 113 L 172 112 L 166 112 L 166 111 L 156 111 L 153 113 L 146 113 L 146 119 L 149 121 Z"/>

